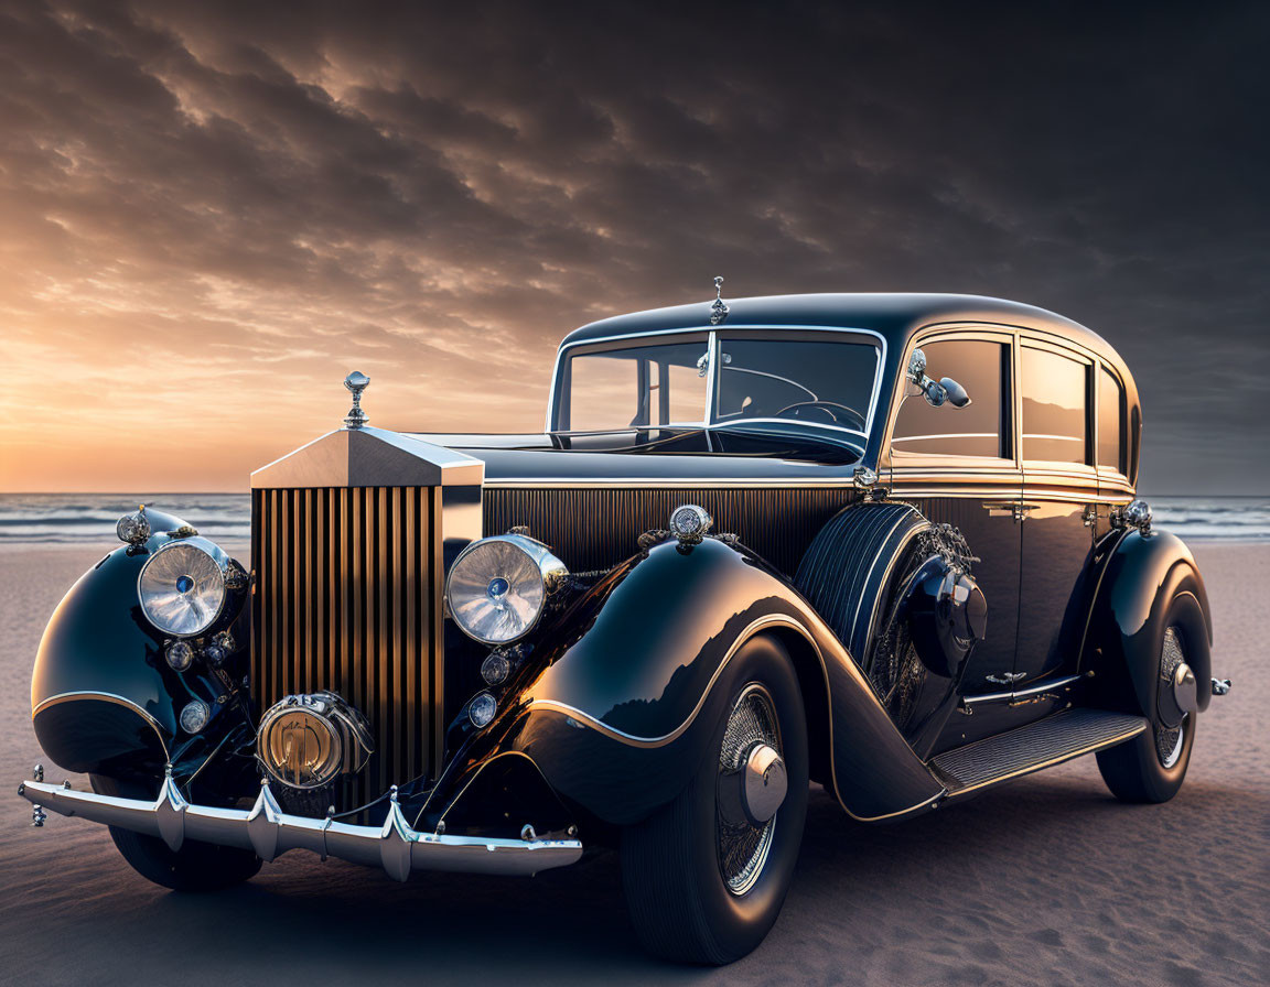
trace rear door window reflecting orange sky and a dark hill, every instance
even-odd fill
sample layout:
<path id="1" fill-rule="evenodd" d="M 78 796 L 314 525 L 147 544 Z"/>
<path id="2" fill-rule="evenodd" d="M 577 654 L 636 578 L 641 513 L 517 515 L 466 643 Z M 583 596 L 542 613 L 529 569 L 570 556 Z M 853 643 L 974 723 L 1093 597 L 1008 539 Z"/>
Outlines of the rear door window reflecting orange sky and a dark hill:
<path id="1" fill-rule="evenodd" d="M 1087 463 L 1088 365 L 1030 346 L 1019 356 L 1024 459 Z"/>

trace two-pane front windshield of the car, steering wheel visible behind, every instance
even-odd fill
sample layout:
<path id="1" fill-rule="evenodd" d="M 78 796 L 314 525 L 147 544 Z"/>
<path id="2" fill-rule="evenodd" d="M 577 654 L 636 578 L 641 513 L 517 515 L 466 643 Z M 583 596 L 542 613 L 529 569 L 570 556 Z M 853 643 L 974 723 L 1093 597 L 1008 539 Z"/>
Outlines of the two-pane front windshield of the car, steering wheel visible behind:
<path id="1" fill-rule="evenodd" d="M 766 421 L 864 434 L 879 360 L 874 341 L 827 331 L 734 331 L 714 339 L 702 332 L 668 343 L 579 346 L 560 369 L 554 428 L 613 431 Z"/>

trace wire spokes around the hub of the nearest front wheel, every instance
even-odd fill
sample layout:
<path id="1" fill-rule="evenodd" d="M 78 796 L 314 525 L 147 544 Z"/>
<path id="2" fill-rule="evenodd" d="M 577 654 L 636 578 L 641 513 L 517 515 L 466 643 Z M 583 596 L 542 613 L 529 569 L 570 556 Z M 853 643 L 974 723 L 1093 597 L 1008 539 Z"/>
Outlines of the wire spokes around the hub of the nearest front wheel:
<path id="1" fill-rule="evenodd" d="M 723 747 L 719 750 L 720 778 L 743 771 L 749 754 L 758 745 L 767 745 L 777 755 L 782 755 L 780 723 L 776 719 L 772 698 L 763 686 L 751 684 L 742 691 L 728 716 Z M 767 861 L 776 816 L 761 826 L 754 826 L 744 821 L 730 821 L 721 809 L 718 809 L 715 820 L 719 869 L 724 884 L 733 894 L 744 894 L 758 880 Z"/>

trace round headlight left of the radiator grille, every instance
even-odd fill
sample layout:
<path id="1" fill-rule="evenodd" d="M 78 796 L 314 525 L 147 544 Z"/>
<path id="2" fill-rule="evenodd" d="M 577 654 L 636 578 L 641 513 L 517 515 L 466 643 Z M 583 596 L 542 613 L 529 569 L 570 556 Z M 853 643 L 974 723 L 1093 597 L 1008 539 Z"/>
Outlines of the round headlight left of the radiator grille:
<path id="1" fill-rule="evenodd" d="M 141 568 L 137 596 L 151 624 L 173 637 L 201 634 L 225 606 L 229 556 L 206 538 L 169 542 Z"/>

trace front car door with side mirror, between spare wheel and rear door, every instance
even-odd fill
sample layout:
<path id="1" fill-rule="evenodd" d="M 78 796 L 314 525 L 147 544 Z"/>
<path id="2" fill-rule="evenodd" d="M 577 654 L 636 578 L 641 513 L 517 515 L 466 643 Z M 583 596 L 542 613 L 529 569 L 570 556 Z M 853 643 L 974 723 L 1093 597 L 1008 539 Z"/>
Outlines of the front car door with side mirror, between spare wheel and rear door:
<path id="1" fill-rule="evenodd" d="M 970 405 L 932 407 L 919 395 L 903 397 L 892 414 L 883 467 L 894 499 L 913 504 L 937 524 L 959 528 L 978 556 L 973 573 L 988 605 L 987 631 L 958 689 L 969 696 L 999 694 L 1008 690 L 1015 671 L 1019 622 L 1021 525 L 1015 511 L 1022 471 L 1012 424 L 1015 336 L 1005 329 L 932 331 L 918 336 L 916 348 L 926 355 L 927 374 L 958 381 Z M 955 740 L 973 738 L 978 731 L 972 727 L 979 724 L 991 732 L 989 719 L 955 719 Z M 914 747 L 925 754 L 935 738 L 921 741 Z"/>

